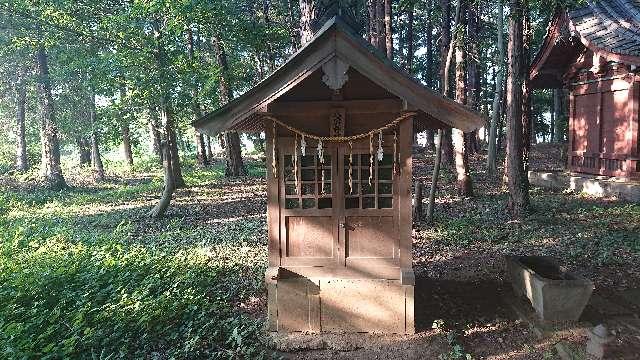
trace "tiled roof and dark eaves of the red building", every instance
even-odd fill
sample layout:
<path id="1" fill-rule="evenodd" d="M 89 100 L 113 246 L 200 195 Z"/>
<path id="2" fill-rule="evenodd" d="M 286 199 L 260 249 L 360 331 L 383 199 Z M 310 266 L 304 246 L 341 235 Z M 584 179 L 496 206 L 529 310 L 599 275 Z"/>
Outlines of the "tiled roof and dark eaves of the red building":
<path id="1" fill-rule="evenodd" d="M 561 87 L 562 76 L 589 49 L 608 61 L 640 65 L 640 0 L 589 0 L 556 13 L 530 70 L 532 86 Z"/>

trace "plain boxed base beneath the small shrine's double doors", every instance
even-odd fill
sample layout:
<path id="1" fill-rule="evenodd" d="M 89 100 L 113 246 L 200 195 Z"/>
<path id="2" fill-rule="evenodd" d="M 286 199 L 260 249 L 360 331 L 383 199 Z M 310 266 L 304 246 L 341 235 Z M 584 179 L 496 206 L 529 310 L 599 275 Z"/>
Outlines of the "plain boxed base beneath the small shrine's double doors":
<path id="1" fill-rule="evenodd" d="M 283 271 L 270 276 L 276 271 L 269 269 L 266 274 L 271 331 L 415 333 L 413 283 L 307 278 L 288 271 L 287 276 Z"/>

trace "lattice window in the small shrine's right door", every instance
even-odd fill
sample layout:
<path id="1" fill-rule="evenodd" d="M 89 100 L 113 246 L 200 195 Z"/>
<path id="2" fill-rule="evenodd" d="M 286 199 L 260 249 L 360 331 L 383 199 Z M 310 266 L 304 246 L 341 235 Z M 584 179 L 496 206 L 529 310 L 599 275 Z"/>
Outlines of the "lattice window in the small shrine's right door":
<path id="1" fill-rule="evenodd" d="M 384 153 L 381 161 L 374 159 L 373 177 L 369 185 L 369 154 L 353 154 L 353 189 L 349 187 L 349 156 L 344 159 L 345 209 L 393 208 L 393 154 Z"/>

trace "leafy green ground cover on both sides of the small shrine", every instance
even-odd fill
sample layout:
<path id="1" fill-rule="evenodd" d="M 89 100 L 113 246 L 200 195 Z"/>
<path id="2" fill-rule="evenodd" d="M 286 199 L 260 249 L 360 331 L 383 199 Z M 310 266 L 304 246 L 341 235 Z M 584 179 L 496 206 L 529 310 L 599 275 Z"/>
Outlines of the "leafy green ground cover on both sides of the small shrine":
<path id="1" fill-rule="evenodd" d="M 69 169 L 75 187 L 63 192 L 0 176 L 0 358 L 272 357 L 264 164 L 232 181 L 221 165 L 187 164 L 189 188 L 159 221 L 146 217 L 157 164 L 109 165 L 98 185 Z M 435 225 L 415 226 L 420 276 L 498 279 L 501 254 L 527 253 L 558 257 L 598 291 L 640 287 L 640 205 L 533 189 L 531 215 L 511 221 L 499 184 L 475 179 L 463 199 L 445 170 Z"/>

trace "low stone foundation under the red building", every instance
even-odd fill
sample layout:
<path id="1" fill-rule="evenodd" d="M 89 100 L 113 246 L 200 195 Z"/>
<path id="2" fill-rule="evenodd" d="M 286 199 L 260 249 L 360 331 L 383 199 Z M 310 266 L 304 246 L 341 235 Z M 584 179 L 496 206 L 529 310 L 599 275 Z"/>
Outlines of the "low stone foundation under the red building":
<path id="1" fill-rule="evenodd" d="M 640 203 L 640 182 L 566 172 L 529 171 L 531 185 L 568 190 L 590 196 L 617 196 L 623 200 Z"/>

